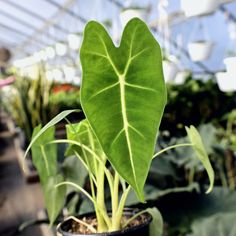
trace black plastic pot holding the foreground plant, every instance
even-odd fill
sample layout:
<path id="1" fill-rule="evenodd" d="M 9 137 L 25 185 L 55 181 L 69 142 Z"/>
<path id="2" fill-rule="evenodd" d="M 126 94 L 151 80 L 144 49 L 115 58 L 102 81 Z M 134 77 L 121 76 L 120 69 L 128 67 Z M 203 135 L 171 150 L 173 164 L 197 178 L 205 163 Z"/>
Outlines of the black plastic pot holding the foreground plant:
<path id="1" fill-rule="evenodd" d="M 137 210 L 126 210 L 124 214 L 126 216 L 132 216 L 135 213 L 137 213 Z M 120 231 L 114 231 L 110 233 L 93 233 L 93 234 L 75 234 L 75 233 L 69 233 L 68 231 L 71 229 L 71 224 L 73 220 L 65 220 L 59 226 L 57 227 L 57 233 L 58 235 L 62 236 L 149 236 L 149 225 L 152 221 L 152 217 L 150 214 L 145 213 L 147 220 L 145 223 L 142 223 L 140 225 L 134 226 L 132 228 L 128 228 L 125 230 L 120 230 Z M 88 213 L 81 215 L 79 218 L 83 217 L 90 217 L 93 216 L 94 213 Z"/>

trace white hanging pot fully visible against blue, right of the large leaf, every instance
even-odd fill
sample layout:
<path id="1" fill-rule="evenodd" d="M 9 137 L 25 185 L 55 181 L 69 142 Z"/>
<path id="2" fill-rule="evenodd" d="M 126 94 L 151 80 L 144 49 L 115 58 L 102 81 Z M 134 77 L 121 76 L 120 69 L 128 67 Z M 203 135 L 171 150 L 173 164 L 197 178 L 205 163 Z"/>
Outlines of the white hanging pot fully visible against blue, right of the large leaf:
<path id="1" fill-rule="evenodd" d="M 211 41 L 196 41 L 188 44 L 188 52 L 192 61 L 204 61 L 209 58 L 213 48 Z"/>

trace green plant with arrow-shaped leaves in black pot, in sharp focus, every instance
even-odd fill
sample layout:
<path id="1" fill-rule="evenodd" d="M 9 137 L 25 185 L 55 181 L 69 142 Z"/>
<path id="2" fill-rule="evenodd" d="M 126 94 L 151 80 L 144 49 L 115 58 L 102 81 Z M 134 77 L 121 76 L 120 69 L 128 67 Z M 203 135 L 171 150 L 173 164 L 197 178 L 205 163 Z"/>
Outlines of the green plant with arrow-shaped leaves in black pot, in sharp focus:
<path id="1" fill-rule="evenodd" d="M 87 196 L 95 213 L 66 219 L 58 226 L 59 234 L 160 236 L 163 225 L 158 210 L 126 211 L 127 197 L 133 190 L 139 201 L 145 202 L 143 188 L 153 158 L 181 146 L 191 146 L 196 151 L 210 178 L 207 192 L 211 191 L 214 172 L 201 137 L 194 127 L 186 128 L 190 143 L 153 154 L 166 104 L 166 88 L 160 46 L 140 19 L 129 21 L 118 48 L 102 25 L 89 22 L 80 52 L 83 70 L 80 96 L 86 119 L 67 125 L 67 139 L 54 140 L 46 135 L 45 143 L 40 143 L 42 135 L 75 110 L 63 111 L 34 133 L 26 150 L 26 154 L 31 147 L 41 150 L 42 158 L 35 160 L 45 163 L 42 182 L 49 218 L 51 222 L 55 220 L 65 187 L 72 186 Z M 52 158 L 46 151 L 49 155 L 49 144 L 58 143 L 67 143 L 66 155 L 77 156 L 87 169 L 90 192 L 55 176 L 55 169 L 50 165 Z M 56 177 L 53 180 L 51 173 Z M 110 210 L 104 197 L 105 183 L 111 195 Z"/>

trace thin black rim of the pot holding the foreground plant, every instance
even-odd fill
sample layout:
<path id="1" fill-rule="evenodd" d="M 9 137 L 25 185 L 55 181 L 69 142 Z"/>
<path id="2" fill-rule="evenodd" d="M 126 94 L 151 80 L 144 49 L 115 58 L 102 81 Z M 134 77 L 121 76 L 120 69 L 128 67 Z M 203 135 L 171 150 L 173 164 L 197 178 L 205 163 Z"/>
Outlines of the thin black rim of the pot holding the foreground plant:
<path id="1" fill-rule="evenodd" d="M 131 209 L 131 208 L 126 208 L 124 210 L 124 214 L 136 214 L 140 211 L 140 209 Z M 68 219 L 68 220 L 64 220 L 63 222 L 59 223 L 58 226 L 57 226 L 57 231 L 61 234 L 61 235 L 65 235 L 65 236 L 95 236 L 95 235 L 98 235 L 98 236 L 118 236 L 118 234 L 123 234 L 123 233 L 128 233 L 128 232 L 132 232 L 132 231 L 135 231 L 135 230 L 138 230 L 140 228 L 143 228 L 147 225 L 149 225 L 152 221 L 152 216 L 150 213 L 148 212 L 144 212 L 143 214 L 147 215 L 147 220 L 142 223 L 142 224 L 139 224 L 139 225 L 136 225 L 134 227 L 131 227 L 131 228 L 127 228 L 127 229 L 121 229 L 121 230 L 117 230 L 117 231 L 112 231 L 112 232 L 104 232 L 104 233 L 91 233 L 91 234 L 78 234 L 78 233 L 69 233 L 67 231 L 64 231 L 62 230 L 61 226 L 62 224 L 65 224 L 66 222 L 68 221 L 71 221 L 72 219 Z M 94 212 L 89 212 L 89 213 L 85 213 L 85 214 L 82 214 L 80 215 L 79 217 L 82 218 L 84 216 L 90 216 L 90 215 L 95 215 Z"/>

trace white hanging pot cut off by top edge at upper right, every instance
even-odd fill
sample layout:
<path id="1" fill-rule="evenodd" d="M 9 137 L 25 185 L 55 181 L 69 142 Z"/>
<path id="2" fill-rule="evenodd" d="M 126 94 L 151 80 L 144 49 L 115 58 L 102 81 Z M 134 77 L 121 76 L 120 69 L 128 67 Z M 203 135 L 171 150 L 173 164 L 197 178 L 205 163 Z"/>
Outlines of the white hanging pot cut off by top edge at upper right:
<path id="1" fill-rule="evenodd" d="M 187 17 L 211 14 L 218 8 L 218 6 L 218 0 L 181 0 L 181 8 Z"/>

